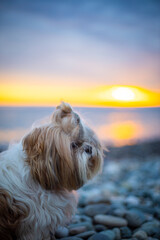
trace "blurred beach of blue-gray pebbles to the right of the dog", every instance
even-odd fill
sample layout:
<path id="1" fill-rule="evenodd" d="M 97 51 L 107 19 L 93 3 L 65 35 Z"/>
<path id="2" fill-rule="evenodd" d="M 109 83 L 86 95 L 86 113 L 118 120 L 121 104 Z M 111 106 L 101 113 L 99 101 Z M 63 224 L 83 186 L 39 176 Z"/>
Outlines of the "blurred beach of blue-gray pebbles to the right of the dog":
<path id="1" fill-rule="evenodd" d="M 56 239 L 160 239 L 160 155 L 137 154 L 105 160 L 103 173 L 78 191 L 77 214 Z"/>

